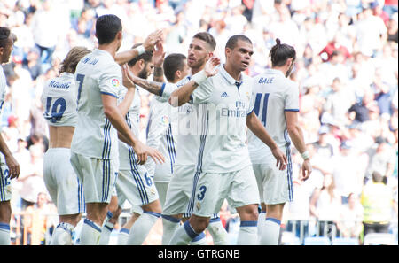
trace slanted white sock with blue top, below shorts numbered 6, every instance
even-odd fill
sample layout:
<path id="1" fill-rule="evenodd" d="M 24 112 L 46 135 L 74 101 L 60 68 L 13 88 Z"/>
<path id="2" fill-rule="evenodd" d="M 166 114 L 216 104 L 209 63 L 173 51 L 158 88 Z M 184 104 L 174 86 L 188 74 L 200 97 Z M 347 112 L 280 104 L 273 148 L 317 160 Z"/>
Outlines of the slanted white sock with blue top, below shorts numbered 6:
<path id="1" fill-rule="evenodd" d="M 160 213 L 145 211 L 130 228 L 129 238 L 126 244 L 141 245 L 150 233 L 155 222 L 160 218 Z"/>

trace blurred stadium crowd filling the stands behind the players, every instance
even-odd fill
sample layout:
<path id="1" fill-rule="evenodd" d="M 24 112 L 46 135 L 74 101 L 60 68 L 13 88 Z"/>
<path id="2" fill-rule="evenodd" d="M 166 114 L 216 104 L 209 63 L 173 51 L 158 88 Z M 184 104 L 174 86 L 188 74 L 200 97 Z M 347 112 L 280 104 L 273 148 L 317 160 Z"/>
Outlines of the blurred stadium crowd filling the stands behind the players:
<path id="1" fill-rule="evenodd" d="M 292 45 L 297 61 L 290 78 L 299 83 L 300 123 L 314 171 L 306 182 L 294 180 L 286 226 L 289 220 L 325 220 L 343 236 L 360 236 L 355 221 L 374 222 L 366 213 L 372 190 L 364 189 L 380 177 L 389 205 L 381 208 L 385 218 L 379 222 L 395 221 L 389 231 L 397 236 L 397 10 L 397 1 L 387 0 L 2 0 L 0 27 L 18 37 L 11 63 L 4 65 L 8 90 L 1 119 L 6 143 L 20 163 L 20 177 L 12 181 L 12 211 L 25 211 L 46 192 L 43 83 L 58 74 L 72 47 L 95 48 L 96 18 L 113 13 L 123 23 L 121 50 L 162 28 L 167 54 L 185 54 L 192 35 L 207 31 L 223 61 L 227 39 L 246 35 L 254 43 L 250 76 L 270 67 L 277 37 Z M 152 99 L 141 92 L 143 141 Z M 293 153 L 298 174 L 301 156 Z M 228 207 L 221 218 L 233 231 Z"/>

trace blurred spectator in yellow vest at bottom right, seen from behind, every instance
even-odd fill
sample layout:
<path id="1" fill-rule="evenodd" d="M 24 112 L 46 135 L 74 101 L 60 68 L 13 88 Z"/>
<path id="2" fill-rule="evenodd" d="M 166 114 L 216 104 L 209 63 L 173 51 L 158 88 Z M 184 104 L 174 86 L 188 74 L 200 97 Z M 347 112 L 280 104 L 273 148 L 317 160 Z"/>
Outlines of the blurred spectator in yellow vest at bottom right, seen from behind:
<path id="1" fill-rule="evenodd" d="M 373 172 L 372 182 L 367 183 L 362 191 L 364 236 L 388 232 L 394 202 L 393 193 L 383 180 L 384 177 L 379 172 Z"/>

